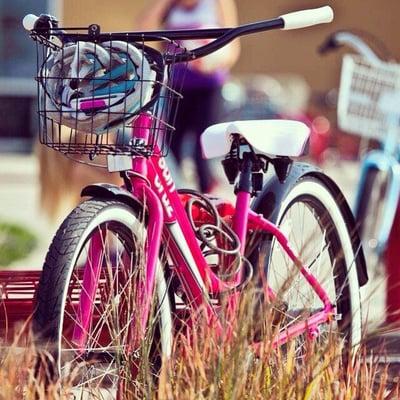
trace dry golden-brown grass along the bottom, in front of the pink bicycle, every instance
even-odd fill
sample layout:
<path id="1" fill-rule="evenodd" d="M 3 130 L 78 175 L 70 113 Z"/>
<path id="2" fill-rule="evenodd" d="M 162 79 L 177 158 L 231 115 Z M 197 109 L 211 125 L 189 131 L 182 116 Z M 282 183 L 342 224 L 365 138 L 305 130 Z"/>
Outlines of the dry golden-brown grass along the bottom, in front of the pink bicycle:
<path id="1" fill-rule="evenodd" d="M 390 384 L 388 370 L 377 360 L 368 361 L 365 346 L 345 363 L 343 340 L 326 333 L 324 340 L 293 340 L 273 348 L 278 331 L 273 309 L 262 310 L 266 319 L 255 326 L 250 302 L 238 310 L 240 323 L 232 336 L 221 338 L 202 316 L 192 321 L 196 329 L 181 329 L 175 336 L 173 357 L 158 377 L 158 390 L 150 376 L 151 360 L 144 356 L 136 379 L 125 388 L 124 399 L 398 399 L 399 385 Z M 257 313 L 260 312 L 258 309 Z M 271 323 L 274 321 L 275 325 Z M 225 320 L 225 332 L 231 325 Z M 271 327 L 272 326 L 272 327 Z M 26 326 L 23 331 L 26 331 Z M 22 332 L 22 331 L 21 331 Z M 254 335 L 263 335 L 258 355 L 251 345 Z M 299 343 L 303 346 L 299 355 Z M 147 344 L 144 344 L 147 348 Z M 142 354 L 149 354 L 143 351 Z M 22 334 L 4 350 L 0 366 L 0 399 L 70 399 L 66 394 L 79 366 L 71 368 L 59 384 L 47 387 L 35 374 L 35 350 Z M 147 358 L 146 358 L 147 357 Z M 126 367 L 128 368 L 128 367 Z M 43 376 L 43 375 L 42 375 Z M 152 384 L 151 384 L 152 382 Z M 100 399 L 92 395 L 90 399 Z M 104 397 L 109 398 L 109 397 Z"/>

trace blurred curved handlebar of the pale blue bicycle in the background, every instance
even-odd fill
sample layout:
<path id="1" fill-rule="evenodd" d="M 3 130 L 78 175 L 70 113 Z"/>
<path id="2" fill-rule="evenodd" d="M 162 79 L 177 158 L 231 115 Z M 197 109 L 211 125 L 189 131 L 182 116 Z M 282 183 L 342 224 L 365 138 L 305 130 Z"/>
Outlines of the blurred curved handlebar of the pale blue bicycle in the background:
<path id="1" fill-rule="evenodd" d="M 341 46 L 348 46 L 355 50 L 370 63 L 382 62 L 381 58 L 358 35 L 349 31 L 337 31 L 329 35 L 319 47 L 320 54 L 337 50 Z"/>

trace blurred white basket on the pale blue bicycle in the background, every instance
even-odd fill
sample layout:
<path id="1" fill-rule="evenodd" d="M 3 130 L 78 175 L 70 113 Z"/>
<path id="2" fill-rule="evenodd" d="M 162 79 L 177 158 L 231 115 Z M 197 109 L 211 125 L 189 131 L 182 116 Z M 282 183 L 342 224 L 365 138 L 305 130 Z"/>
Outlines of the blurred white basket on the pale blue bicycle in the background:
<path id="1" fill-rule="evenodd" d="M 382 141 L 392 128 L 389 123 L 394 110 L 400 114 L 400 102 L 396 102 L 399 94 L 399 64 L 371 64 L 359 56 L 345 55 L 338 98 L 339 127 Z"/>

